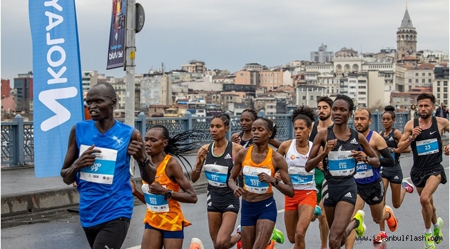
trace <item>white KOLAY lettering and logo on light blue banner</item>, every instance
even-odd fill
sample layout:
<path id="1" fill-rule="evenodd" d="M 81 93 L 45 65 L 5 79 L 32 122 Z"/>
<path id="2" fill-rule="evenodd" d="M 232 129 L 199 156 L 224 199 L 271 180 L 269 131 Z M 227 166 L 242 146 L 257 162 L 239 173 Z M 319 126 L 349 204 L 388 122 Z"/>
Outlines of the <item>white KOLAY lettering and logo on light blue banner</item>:
<path id="1" fill-rule="evenodd" d="M 57 4 L 58 0 L 46 1 L 44 2 L 44 6 L 53 7 L 56 10 L 62 12 L 62 7 Z M 46 11 L 45 15 L 48 17 L 48 26 L 46 26 L 46 30 L 50 31 L 56 26 L 62 24 L 64 21 L 64 17 L 61 15 L 57 15 L 53 12 Z M 54 33 L 53 33 L 54 34 Z M 62 46 L 57 46 L 57 44 L 64 44 L 64 38 L 55 38 L 51 39 L 51 33 L 46 33 L 46 44 L 51 46 L 47 51 L 47 63 L 48 68 L 47 72 L 51 75 L 51 78 L 47 80 L 47 84 L 58 84 L 58 83 L 66 83 L 67 78 L 62 77 L 64 72 L 66 72 L 66 66 L 62 66 L 66 61 L 66 51 Z M 51 55 L 58 54 L 59 56 L 56 60 L 53 60 Z M 55 56 L 53 57 L 55 58 Z M 57 73 L 53 70 L 53 68 L 62 66 Z M 63 107 L 62 104 L 57 102 L 56 100 L 66 99 L 66 98 L 74 98 L 78 95 L 78 89 L 76 87 L 64 87 L 60 89 L 50 89 L 46 91 L 42 91 L 39 93 L 39 101 L 44 104 L 48 109 L 55 113 L 55 116 L 44 120 L 41 124 L 42 131 L 48 131 L 53 129 L 60 124 L 68 121 L 71 118 L 71 112 Z"/>

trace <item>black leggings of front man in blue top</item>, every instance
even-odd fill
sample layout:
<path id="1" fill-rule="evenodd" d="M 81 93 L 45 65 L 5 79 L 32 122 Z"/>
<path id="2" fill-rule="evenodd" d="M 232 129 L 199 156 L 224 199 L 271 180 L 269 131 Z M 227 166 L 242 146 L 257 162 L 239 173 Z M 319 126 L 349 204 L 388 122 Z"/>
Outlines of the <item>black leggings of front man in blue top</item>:
<path id="1" fill-rule="evenodd" d="M 120 249 L 129 228 L 129 219 L 118 218 L 112 221 L 83 228 L 92 249 Z"/>

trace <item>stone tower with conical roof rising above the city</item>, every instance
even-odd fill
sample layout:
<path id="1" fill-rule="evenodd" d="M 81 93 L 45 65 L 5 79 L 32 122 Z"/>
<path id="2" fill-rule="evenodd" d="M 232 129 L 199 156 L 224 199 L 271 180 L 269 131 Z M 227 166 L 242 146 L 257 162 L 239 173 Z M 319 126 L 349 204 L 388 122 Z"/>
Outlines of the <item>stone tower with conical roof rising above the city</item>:
<path id="1" fill-rule="evenodd" d="M 404 57 L 415 56 L 417 45 L 417 32 L 413 27 L 413 21 L 409 17 L 408 6 L 406 6 L 402 25 L 397 30 L 397 60 Z"/>

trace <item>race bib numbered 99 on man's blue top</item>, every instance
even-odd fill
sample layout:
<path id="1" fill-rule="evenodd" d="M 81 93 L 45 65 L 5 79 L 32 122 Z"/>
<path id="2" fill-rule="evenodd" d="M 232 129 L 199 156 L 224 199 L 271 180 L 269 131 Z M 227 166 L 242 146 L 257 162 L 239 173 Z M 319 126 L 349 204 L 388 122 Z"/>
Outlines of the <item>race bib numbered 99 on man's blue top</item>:
<path id="1" fill-rule="evenodd" d="M 89 149 L 90 146 L 80 146 L 81 154 Z M 91 183 L 112 184 L 114 169 L 116 169 L 117 150 L 94 147 L 100 149 L 102 153 L 96 154 L 96 160 L 93 165 L 80 169 L 80 179 Z"/>

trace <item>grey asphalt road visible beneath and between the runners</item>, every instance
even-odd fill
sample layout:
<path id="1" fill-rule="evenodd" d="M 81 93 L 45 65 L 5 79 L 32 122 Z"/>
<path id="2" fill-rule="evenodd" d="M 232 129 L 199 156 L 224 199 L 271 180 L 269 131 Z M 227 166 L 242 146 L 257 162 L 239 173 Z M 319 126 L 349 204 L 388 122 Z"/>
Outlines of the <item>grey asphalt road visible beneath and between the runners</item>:
<path id="1" fill-rule="evenodd" d="M 401 164 L 405 178 L 409 176 L 412 165 L 412 157 L 401 158 Z M 447 176 L 449 176 L 449 157 L 444 156 L 442 162 Z M 278 207 L 277 228 L 285 232 L 284 197 L 280 192 L 275 191 L 275 199 Z M 449 248 L 449 184 L 440 185 L 435 192 L 434 203 L 437 206 L 438 216 L 442 217 L 444 225 L 442 232 L 444 240 L 436 248 Z M 390 190 L 388 190 L 388 205 L 390 204 Z M 206 194 L 198 194 L 197 204 L 182 204 L 186 219 L 193 225 L 185 229 L 185 241 L 183 248 L 189 248 L 190 239 L 197 237 L 204 242 L 205 248 L 213 248 L 208 233 L 208 223 L 206 216 Z M 368 206 L 366 211 L 366 238 L 371 239 L 379 227 L 372 221 Z M 143 234 L 143 216 L 145 205 L 137 205 L 134 208 L 132 223 L 130 225 L 127 239 L 123 248 L 140 248 Z M 417 192 L 407 194 L 402 207 L 394 210 L 399 227 L 395 232 L 388 232 L 389 236 L 395 236 L 398 241 L 389 241 L 381 245 L 374 246 L 372 241 L 357 241 L 354 248 L 423 248 L 423 241 L 413 241 L 411 238 L 422 237 L 424 234 L 424 224 L 422 221 L 421 206 Z M 237 219 L 240 221 L 240 217 Z M 237 227 L 238 224 L 236 224 Z M 319 248 L 320 239 L 318 238 L 318 221 L 311 223 L 306 234 L 307 248 Z M 293 245 L 285 240 L 285 243 L 278 245 L 278 249 L 292 248 Z M 14 228 L 1 229 L 1 248 L 89 248 L 89 244 L 84 236 L 84 231 L 80 225 L 78 214 L 71 212 L 57 216 L 47 223 L 35 223 L 30 225 L 21 225 Z"/>

